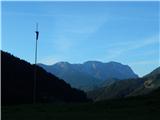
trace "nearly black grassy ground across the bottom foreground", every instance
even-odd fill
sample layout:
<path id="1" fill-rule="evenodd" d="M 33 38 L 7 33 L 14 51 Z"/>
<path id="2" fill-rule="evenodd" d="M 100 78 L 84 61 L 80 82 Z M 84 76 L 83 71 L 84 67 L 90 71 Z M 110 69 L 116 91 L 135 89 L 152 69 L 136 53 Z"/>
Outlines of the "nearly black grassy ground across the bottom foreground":
<path id="1" fill-rule="evenodd" d="M 2 120 L 159 120 L 160 92 L 157 93 L 97 103 L 2 107 Z"/>

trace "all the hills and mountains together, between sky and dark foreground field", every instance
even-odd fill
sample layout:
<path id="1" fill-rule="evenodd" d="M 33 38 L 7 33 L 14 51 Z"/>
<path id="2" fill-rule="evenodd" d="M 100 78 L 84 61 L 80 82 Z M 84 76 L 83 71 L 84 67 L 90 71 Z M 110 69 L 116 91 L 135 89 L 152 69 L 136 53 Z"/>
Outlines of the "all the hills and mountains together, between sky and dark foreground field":
<path id="1" fill-rule="evenodd" d="M 33 103 L 35 68 L 37 69 L 36 102 L 38 103 L 86 102 L 90 99 L 102 101 L 147 95 L 160 89 L 160 67 L 139 78 L 129 66 L 116 62 L 89 61 L 84 64 L 59 62 L 52 66 L 43 64 L 39 66 L 1 51 L 2 105 Z M 108 71 L 106 72 L 108 75 L 102 74 L 105 71 Z M 63 80 L 62 77 L 67 80 Z M 71 83 L 72 87 L 65 81 Z M 86 90 L 87 95 L 73 88 L 74 86 Z"/>

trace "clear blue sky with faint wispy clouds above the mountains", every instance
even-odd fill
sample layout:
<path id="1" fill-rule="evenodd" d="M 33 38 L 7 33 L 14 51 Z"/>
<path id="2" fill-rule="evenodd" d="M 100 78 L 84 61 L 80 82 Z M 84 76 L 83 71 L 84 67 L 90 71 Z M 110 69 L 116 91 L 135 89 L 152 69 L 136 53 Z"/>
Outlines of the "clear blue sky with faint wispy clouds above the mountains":
<path id="1" fill-rule="evenodd" d="M 160 66 L 160 2 L 2 2 L 1 49 L 34 63 L 116 61 L 139 76 Z"/>

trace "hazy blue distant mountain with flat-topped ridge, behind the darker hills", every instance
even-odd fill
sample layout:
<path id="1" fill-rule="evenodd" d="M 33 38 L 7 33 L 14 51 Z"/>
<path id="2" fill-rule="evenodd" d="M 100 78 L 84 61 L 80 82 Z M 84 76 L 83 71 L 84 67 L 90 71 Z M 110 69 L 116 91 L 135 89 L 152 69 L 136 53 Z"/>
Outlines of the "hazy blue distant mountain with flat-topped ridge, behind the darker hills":
<path id="1" fill-rule="evenodd" d="M 44 64 L 39 64 L 39 66 L 59 78 L 65 79 L 71 86 L 86 91 L 97 88 L 105 80 L 138 77 L 129 66 L 117 62 L 88 61 L 83 64 L 58 62 L 50 66 Z"/>

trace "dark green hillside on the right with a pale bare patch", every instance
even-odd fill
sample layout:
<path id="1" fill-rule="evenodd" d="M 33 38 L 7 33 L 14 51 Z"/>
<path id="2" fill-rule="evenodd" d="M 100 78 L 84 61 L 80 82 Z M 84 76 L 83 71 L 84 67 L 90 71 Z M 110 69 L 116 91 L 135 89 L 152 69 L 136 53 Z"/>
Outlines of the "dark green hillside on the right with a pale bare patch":
<path id="1" fill-rule="evenodd" d="M 143 78 L 115 81 L 111 85 L 89 91 L 89 98 L 94 101 L 123 98 L 149 94 L 160 87 L 160 68 L 157 68 Z"/>

